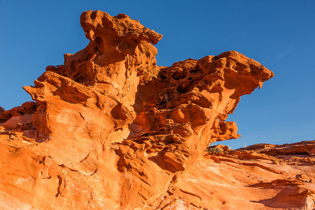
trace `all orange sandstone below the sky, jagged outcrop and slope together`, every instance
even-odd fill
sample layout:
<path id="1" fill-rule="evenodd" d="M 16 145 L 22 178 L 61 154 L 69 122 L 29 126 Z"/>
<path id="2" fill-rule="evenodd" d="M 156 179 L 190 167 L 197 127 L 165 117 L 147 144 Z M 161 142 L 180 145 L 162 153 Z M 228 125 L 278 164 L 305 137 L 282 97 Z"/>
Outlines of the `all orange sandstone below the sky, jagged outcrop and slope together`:
<path id="1" fill-rule="evenodd" d="M 269 69 L 236 51 L 157 66 L 138 20 L 80 23 L 88 46 L 0 108 L 1 209 L 314 208 L 314 142 L 206 150 L 240 137 L 225 120 Z"/>

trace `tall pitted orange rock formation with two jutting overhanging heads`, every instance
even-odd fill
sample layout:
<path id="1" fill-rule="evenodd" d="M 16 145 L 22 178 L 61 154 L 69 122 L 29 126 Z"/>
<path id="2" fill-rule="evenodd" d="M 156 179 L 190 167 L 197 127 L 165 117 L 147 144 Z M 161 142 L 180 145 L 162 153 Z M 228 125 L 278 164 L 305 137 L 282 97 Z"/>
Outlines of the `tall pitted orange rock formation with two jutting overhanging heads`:
<path id="1" fill-rule="evenodd" d="M 152 44 L 162 35 L 128 15 L 90 10 L 81 26 L 88 46 L 24 87 L 38 106 L 36 136 L 15 139 L 14 148 L 17 164 L 36 164 L 21 180 L 0 176 L 6 196 L 27 194 L 19 198 L 26 206 L 154 209 L 210 143 L 240 137 L 224 120 L 240 96 L 273 77 L 236 51 L 156 66 Z M 15 161 L 2 150 L 6 163 Z"/>

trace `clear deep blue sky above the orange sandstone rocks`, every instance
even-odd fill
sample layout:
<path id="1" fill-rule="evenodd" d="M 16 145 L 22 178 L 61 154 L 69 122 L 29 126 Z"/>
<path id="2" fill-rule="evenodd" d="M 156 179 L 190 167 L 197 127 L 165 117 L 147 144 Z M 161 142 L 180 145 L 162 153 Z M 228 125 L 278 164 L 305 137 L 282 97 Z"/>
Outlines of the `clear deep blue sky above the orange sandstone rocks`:
<path id="1" fill-rule="evenodd" d="M 163 34 L 157 65 L 236 50 L 274 72 L 227 119 L 242 137 L 221 143 L 236 149 L 315 139 L 315 1 L 0 1 L 0 8 L 5 109 L 30 101 L 22 86 L 88 44 L 80 15 L 99 9 Z"/>

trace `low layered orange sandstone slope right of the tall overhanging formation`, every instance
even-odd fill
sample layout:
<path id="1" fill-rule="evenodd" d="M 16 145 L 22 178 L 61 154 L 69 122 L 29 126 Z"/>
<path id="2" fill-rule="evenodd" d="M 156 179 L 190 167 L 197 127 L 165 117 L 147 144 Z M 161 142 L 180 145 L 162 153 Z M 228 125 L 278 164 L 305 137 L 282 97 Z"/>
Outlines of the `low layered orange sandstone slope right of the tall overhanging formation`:
<path id="1" fill-rule="evenodd" d="M 292 146 L 308 150 L 315 147 L 315 141 L 268 144 L 264 151 L 260 148 L 266 144 L 237 150 L 225 146 L 222 152 L 206 150 L 153 205 L 157 209 L 312 210 L 315 154 L 301 154 L 300 150 L 265 154 L 272 147 L 288 151 Z"/>

